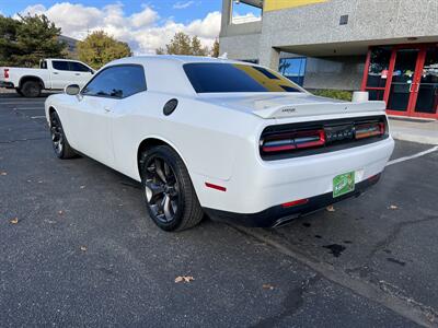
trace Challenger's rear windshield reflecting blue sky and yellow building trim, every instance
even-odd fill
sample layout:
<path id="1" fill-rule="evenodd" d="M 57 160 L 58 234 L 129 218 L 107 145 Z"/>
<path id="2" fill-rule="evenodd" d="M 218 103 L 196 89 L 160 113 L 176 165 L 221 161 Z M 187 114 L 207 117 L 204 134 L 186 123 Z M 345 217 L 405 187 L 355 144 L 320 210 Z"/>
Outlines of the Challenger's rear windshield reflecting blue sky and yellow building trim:
<path id="1" fill-rule="evenodd" d="M 218 92 L 301 92 L 285 77 L 257 66 L 221 62 L 184 65 L 197 93 Z"/>

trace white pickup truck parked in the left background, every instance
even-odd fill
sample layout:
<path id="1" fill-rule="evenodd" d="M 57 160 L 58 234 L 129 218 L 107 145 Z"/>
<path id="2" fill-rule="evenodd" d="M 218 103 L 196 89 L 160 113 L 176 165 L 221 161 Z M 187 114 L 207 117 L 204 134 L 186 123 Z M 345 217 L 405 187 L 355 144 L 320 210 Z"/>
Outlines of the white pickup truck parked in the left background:
<path id="1" fill-rule="evenodd" d="M 39 69 L 0 67 L 0 86 L 15 89 L 25 97 L 37 97 L 43 90 L 62 90 L 69 84 L 85 85 L 94 70 L 70 59 L 44 59 Z"/>

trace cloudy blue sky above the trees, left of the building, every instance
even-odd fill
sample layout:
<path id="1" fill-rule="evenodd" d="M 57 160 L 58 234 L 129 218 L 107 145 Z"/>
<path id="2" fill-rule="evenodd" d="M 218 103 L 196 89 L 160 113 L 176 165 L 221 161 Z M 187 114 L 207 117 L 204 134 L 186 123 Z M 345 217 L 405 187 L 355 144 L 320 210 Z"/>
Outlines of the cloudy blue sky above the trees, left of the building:
<path id="1" fill-rule="evenodd" d="M 154 52 L 157 48 L 169 43 L 176 32 L 197 35 L 204 45 L 211 46 L 219 35 L 221 19 L 220 12 L 210 12 L 204 19 L 187 24 L 176 23 L 172 17 L 160 19 L 158 12 L 149 5 L 126 15 L 120 2 L 102 9 L 70 2 L 56 3 L 50 8 L 35 4 L 21 12 L 27 13 L 44 13 L 62 28 L 64 35 L 78 39 L 83 39 L 90 32 L 103 30 L 115 38 L 127 42 L 135 55 Z"/>

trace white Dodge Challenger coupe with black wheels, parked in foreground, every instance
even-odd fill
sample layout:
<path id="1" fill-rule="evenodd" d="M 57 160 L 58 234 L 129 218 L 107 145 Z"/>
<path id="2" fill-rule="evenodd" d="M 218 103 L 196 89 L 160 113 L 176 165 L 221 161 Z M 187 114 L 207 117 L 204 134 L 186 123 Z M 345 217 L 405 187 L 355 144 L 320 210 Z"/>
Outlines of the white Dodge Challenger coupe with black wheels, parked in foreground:
<path id="1" fill-rule="evenodd" d="M 45 104 L 56 155 L 141 181 L 165 231 L 204 213 L 278 226 L 359 196 L 394 148 L 384 107 L 316 97 L 257 65 L 183 56 L 115 60 Z"/>

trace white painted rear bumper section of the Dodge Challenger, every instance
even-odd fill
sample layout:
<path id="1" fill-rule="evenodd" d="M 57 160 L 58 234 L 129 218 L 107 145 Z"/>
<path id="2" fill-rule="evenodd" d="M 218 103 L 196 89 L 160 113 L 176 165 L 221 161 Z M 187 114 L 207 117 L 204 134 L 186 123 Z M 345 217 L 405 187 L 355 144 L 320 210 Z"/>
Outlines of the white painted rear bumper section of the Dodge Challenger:
<path id="1" fill-rule="evenodd" d="M 192 175 L 201 207 L 260 213 L 300 199 L 333 192 L 334 178 L 354 172 L 355 185 L 380 174 L 394 148 L 392 138 L 332 153 L 264 162 L 242 149 L 229 180 Z M 223 187 L 209 188 L 206 184 Z"/>

